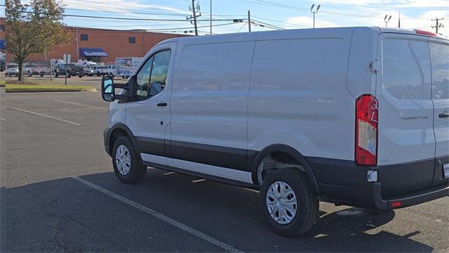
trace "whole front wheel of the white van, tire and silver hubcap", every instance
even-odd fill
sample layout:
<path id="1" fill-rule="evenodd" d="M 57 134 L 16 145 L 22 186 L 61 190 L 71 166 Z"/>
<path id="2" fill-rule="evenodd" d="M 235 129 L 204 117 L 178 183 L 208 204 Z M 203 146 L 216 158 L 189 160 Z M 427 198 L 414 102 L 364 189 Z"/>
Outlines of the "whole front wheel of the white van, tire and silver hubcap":
<path id="1" fill-rule="evenodd" d="M 112 163 L 116 176 L 123 183 L 138 183 L 147 172 L 147 167 L 140 163 L 128 136 L 121 136 L 114 143 Z"/>

